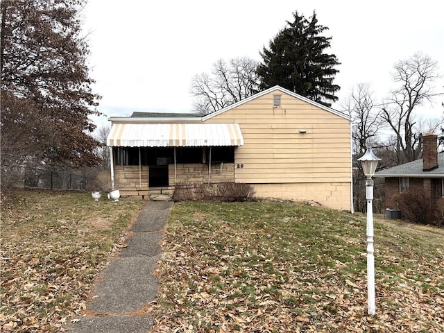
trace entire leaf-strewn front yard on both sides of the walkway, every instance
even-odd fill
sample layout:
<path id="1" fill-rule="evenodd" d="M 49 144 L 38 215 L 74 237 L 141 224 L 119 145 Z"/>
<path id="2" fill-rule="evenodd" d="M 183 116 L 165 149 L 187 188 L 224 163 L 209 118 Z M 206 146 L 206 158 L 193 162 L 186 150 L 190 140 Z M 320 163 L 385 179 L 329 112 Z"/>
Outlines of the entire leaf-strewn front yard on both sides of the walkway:
<path id="1" fill-rule="evenodd" d="M 2 332 L 61 332 L 85 309 L 142 200 L 21 191 L 1 201 Z M 176 203 L 155 332 L 443 332 L 444 230 L 295 203 Z"/>

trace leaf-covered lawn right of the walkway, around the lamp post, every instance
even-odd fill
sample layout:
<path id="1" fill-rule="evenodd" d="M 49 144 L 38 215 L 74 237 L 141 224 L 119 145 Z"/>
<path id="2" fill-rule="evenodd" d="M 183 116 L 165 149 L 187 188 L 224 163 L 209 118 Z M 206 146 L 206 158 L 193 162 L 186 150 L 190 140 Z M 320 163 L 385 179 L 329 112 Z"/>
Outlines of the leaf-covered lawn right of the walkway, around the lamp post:
<path id="1" fill-rule="evenodd" d="M 157 268 L 154 332 L 443 332 L 444 230 L 295 203 L 180 203 Z"/>

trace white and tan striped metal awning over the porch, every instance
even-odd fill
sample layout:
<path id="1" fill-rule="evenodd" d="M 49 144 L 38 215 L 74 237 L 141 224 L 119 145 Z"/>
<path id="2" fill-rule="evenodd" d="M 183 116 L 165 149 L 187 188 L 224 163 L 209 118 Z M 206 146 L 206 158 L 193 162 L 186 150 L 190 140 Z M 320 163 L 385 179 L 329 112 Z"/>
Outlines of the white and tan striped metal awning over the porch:
<path id="1" fill-rule="evenodd" d="M 237 123 L 114 123 L 112 147 L 242 146 Z"/>

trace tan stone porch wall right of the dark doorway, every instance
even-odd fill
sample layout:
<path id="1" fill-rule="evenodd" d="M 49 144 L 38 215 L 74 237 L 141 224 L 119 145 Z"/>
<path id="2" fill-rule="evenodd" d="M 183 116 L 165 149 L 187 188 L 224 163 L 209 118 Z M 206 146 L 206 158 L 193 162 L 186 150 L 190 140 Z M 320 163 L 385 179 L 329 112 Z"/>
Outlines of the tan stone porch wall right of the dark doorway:
<path id="1" fill-rule="evenodd" d="M 208 164 L 176 164 L 177 183 L 208 182 Z M 174 164 L 168 167 L 169 185 L 175 182 Z M 234 163 L 212 164 L 210 182 L 234 182 Z"/>

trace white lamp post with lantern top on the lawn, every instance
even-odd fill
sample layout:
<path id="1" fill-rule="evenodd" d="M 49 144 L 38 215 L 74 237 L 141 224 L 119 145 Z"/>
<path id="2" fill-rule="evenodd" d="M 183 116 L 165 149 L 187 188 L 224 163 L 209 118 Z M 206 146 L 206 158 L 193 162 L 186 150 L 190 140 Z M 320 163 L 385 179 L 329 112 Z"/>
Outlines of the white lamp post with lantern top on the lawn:
<path id="1" fill-rule="evenodd" d="M 367 200 L 367 305 L 368 314 L 375 314 L 375 249 L 373 247 L 373 180 L 377 162 L 381 160 L 371 148 L 358 158 L 361 161 L 362 170 L 366 175 L 366 200 Z"/>

